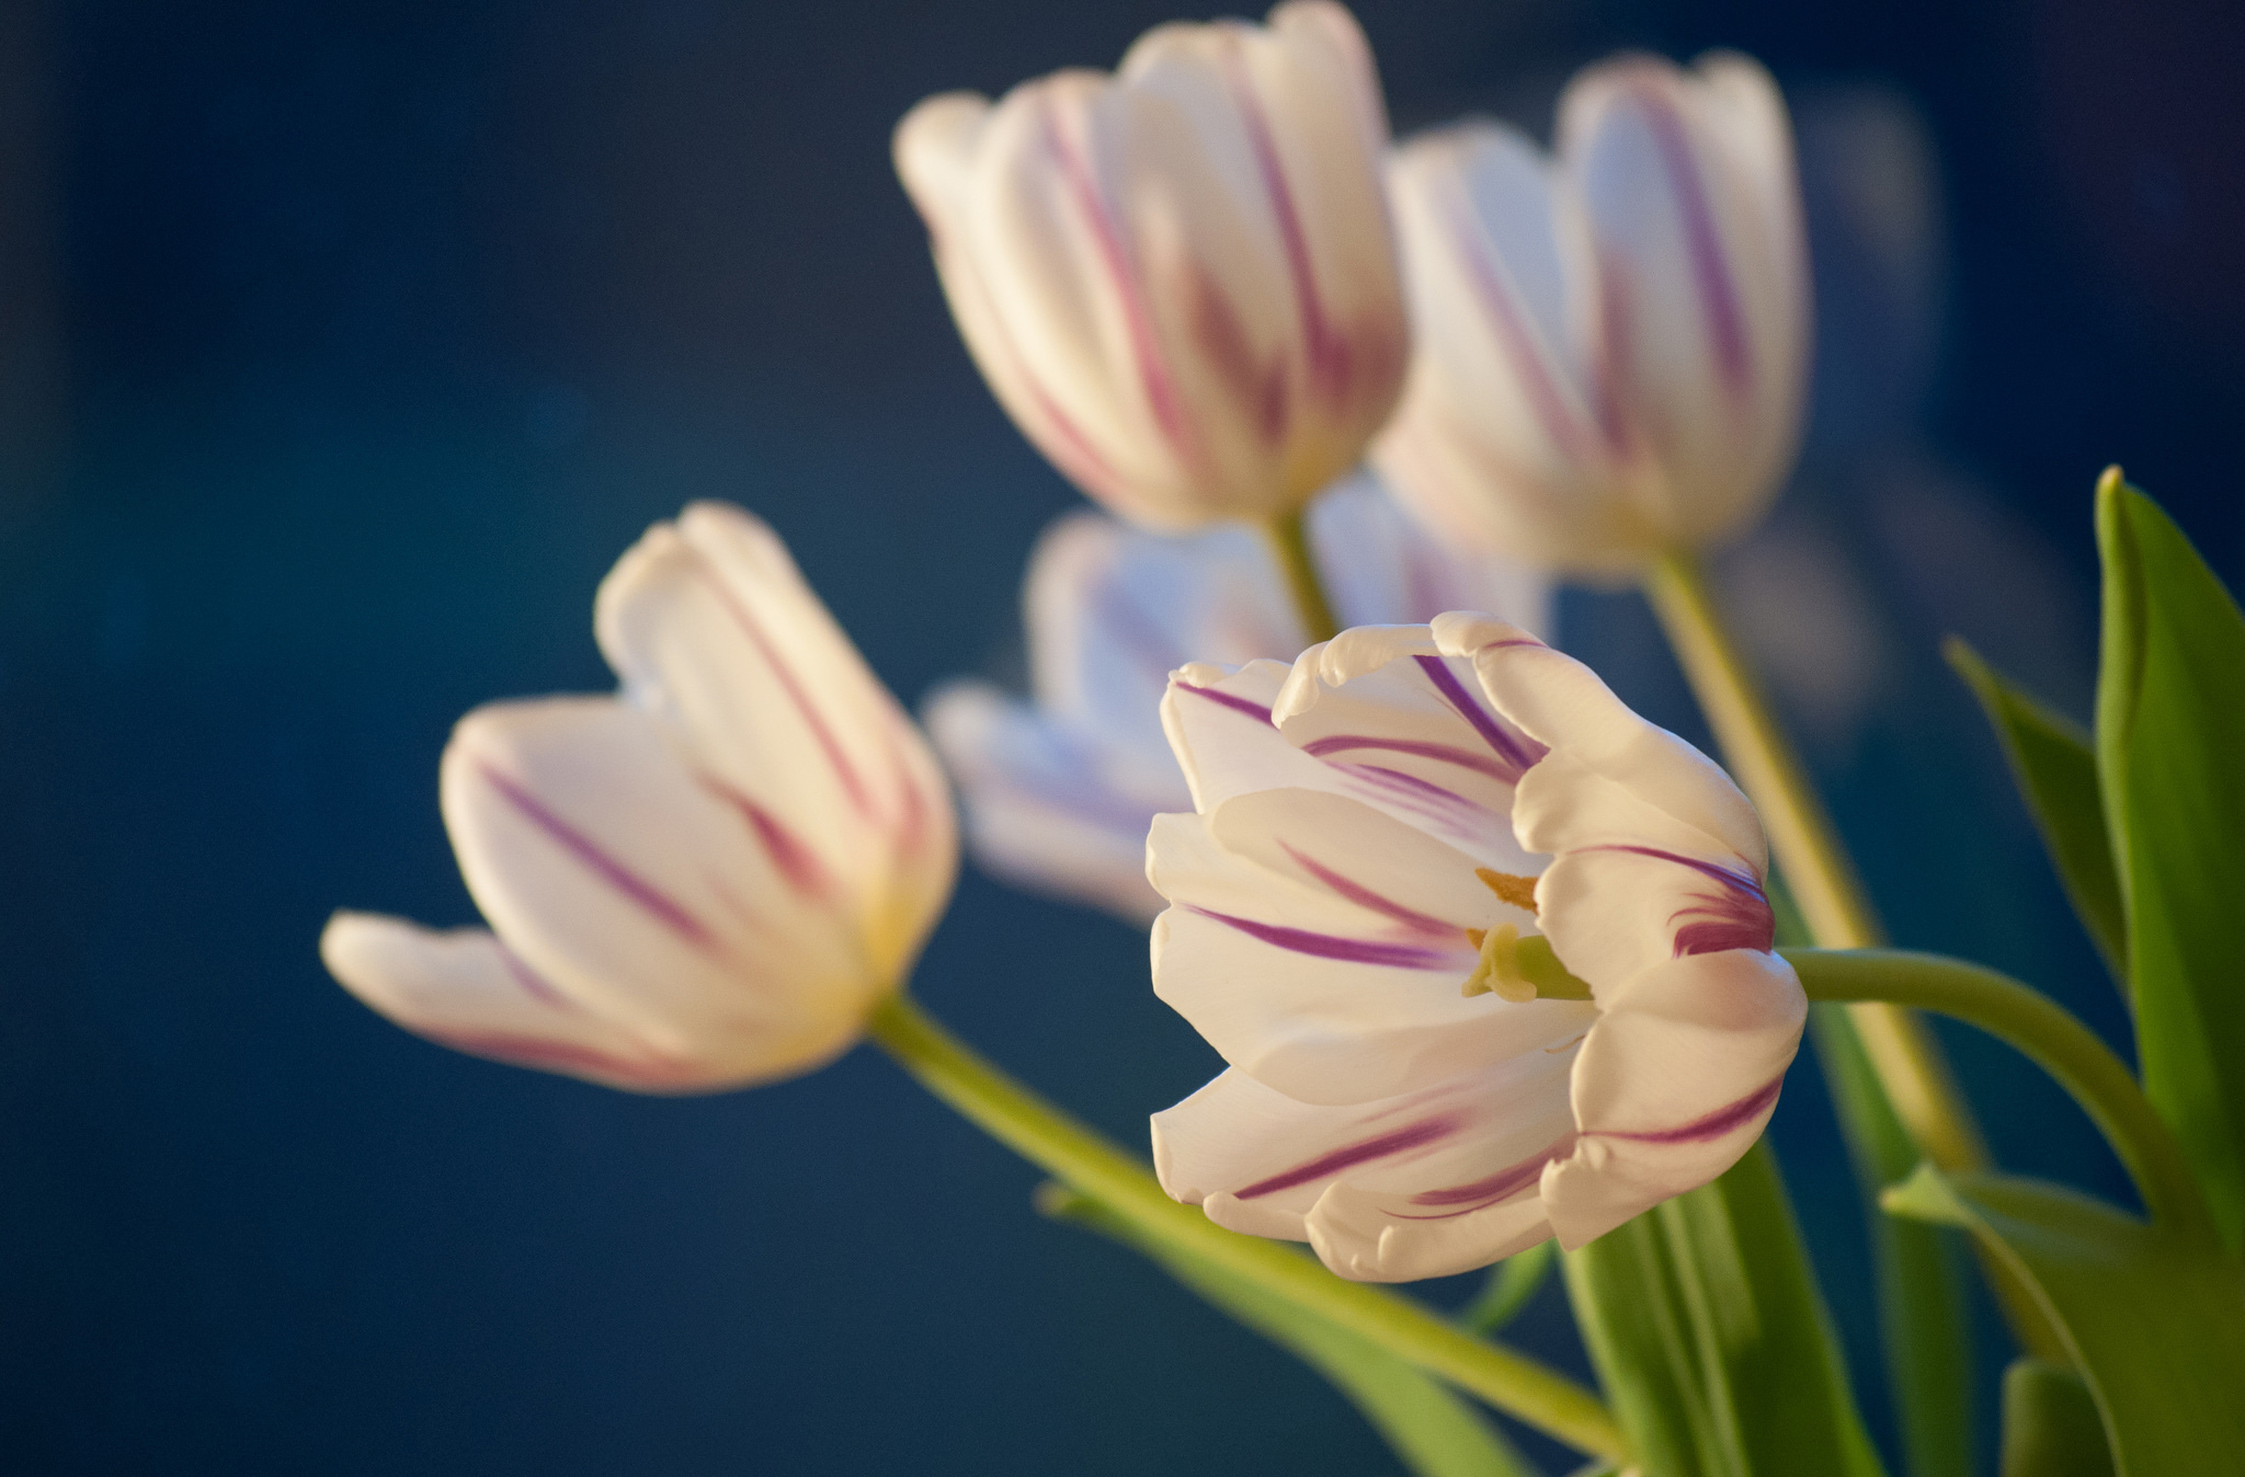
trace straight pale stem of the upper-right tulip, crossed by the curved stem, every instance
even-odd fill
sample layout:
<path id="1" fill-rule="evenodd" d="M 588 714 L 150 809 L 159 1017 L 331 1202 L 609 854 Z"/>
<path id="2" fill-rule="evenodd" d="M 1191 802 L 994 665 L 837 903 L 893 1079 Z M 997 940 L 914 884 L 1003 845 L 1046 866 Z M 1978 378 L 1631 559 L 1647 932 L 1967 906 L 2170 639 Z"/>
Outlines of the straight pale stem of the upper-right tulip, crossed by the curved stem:
<path id="1" fill-rule="evenodd" d="M 1646 575 L 1646 597 L 1699 696 L 1715 743 L 1762 815 L 1769 848 L 1794 887 L 1809 936 L 1832 950 L 1886 943 L 1832 817 L 1715 611 L 1697 557 L 1684 550 L 1661 557 Z M 1951 1172 L 1987 1169 L 1980 1129 L 1924 1021 L 1879 1003 L 1850 1006 L 1848 1015 L 1879 1084 L 1926 1158 Z"/>

